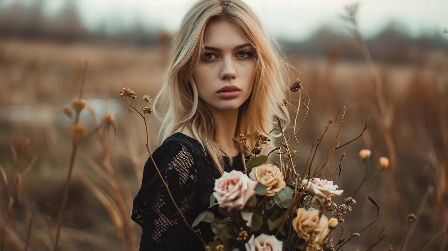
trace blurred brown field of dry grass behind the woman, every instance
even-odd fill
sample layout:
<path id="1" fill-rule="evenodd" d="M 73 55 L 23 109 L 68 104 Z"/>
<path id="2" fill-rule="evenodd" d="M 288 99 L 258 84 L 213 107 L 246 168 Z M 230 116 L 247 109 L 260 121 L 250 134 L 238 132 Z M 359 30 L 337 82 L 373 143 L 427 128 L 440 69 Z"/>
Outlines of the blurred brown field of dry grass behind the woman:
<path id="1" fill-rule="evenodd" d="M 85 62 L 82 99 L 88 109 L 79 119 L 91 131 L 112 113 L 116 130 L 98 130 L 78 147 L 60 250 L 138 250 L 141 229 L 129 217 L 148 157 L 146 136 L 143 122 L 128 114 L 119 91 L 127 86 L 137 92 L 136 105 L 143 105 L 142 94 L 155 97 L 166 57 L 166 49 L 158 46 L 0 41 L 0 251 L 53 250 L 72 151 L 73 118 L 62 107 L 78 97 Z M 368 182 L 342 228 L 333 233 L 333 242 L 375 220 L 376 208 L 367 199 L 371 196 L 379 203 L 379 219 L 343 249 L 366 250 L 383 234 L 375 250 L 389 245 L 395 250 L 446 250 L 448 52 L 427 53 L 419 66 L 375 65 L 380 95 L 365 61 L 345 61 L 332 52 L 327 58 L 291 55 L 289 62 L 291 80 L 300 78 L 310 96 L 308 117 L 298 134 L 297 166 L 306 163 L 311 143 L 340 108 L 347 108 L 341 144 L 358 137 L 369 118 L 362 137 L 338 149 L 330 163 L 336 169 L 339 156 L 346 154 L 336 179 L 345 195 L 334 199 L 339 204 L 364 177 L 359 150 L 372 150 Z M 292 104 L 295 94 L 289 97 Z M 151 116 L 150 145 L 155 149 L 159 121 Z M 338 125 L 332 123 L 322 138 L 312 168 L 325 160 Z M 391 158 L 391 166 L 375 176 L 381 156 Z M 417 220 L 409 222 L 409 214 Z"/>

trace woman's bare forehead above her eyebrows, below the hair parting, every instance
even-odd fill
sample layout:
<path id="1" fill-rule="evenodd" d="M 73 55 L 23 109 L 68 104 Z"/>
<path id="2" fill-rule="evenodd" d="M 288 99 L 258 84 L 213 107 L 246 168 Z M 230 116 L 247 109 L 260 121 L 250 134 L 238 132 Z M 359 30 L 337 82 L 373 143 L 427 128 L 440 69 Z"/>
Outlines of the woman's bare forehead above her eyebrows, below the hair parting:
<path id="1" fill-rule="evenodd" d="M 234 48 L 249 43 L 237 27 L 226 19 L 213 20 L 207 27 L 204 45 L 216 48 Z"/>

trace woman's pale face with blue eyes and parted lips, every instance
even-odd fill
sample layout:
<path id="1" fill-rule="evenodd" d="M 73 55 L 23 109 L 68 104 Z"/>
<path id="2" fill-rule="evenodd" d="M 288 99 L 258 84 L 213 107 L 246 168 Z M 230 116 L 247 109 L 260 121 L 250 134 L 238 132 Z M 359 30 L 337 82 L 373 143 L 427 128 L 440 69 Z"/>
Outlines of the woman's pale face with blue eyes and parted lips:
<path id="1" fill-rule="evenodd" d="M 193 74 L 199 97 L 212 112 L 238 109 L 254 85 L 255 51 L 227 20 L 209 24 L 205 55 Z"/>

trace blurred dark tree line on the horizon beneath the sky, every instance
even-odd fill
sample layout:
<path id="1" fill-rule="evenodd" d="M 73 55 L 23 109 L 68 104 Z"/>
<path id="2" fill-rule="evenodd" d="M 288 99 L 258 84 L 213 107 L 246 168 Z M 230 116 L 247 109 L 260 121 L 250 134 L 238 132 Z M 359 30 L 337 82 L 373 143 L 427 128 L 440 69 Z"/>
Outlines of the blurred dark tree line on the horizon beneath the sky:
<path id="1" fill-rule="evenodd" d="M 141 22 L 131 28 L 121 28 L 113 33 L 102 27 L 96 31 L 82 25 L 76 2 L 67 0 L 64 8 L 55 17 L 44 14 L 45 0 L 34 0 L 25 6 L 16 0 L 8 6 L 0 6 L 0 39 L 47 39 L 58 42 L 113 41 L 152 45 L 158 42 L 160 32 L 147 30 Z M 2 1 L 0 0 L 0 4 Z M 366 40 L 372 57 L 386 63 L 422 63 L 426 52 L 448 51 L 448 33 L 434 32 L 414 38 L 396 23 L 391 23 L 378 35 Z M 281 41 L 288 54 L 326 56 L 335 53 L 338 57 L 362 59 L 353 38 L 322 27 L 303 42 Z"/>

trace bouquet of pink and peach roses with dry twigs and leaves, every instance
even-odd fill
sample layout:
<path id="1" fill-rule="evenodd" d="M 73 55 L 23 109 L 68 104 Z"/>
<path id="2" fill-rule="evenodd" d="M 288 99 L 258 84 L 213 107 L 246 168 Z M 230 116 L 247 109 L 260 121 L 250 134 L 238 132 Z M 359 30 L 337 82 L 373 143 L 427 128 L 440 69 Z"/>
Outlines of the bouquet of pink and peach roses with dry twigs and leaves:
<path id="1" fill-rule="evenodd" d="M 296 79 L 290 89 L 291 91 L 301 90 L 300 81 Z M 304 98 L 304 93 L 306 94 L 306 92 L 300 93 L 301 98 Z M 284 103 L 287 104 L 287 102 Z M 306 118 L 305 102 L 303 107 Z M 297 113 L 299 108 L 300 100 Z M 340 119 L 340 124 L 343 118 L 344 115 Z M 330 123 L 332 119 L 328 125 Z M 276 130 L 280 131 L 284 142 L 280 142 L 280 147 L 269 154 L 273 152 L 279 154 L 280 165 L 266 164 L 268 156 L 260 155 L 261 146 L 270 141 L 267 135 L 259 131 L 250 135 L 253 136 L 255 142 L 252 150 L 246 143 L 248 137 L 240 135 L 241 151 L 247 156 L 246 170 L 245 172 L 236 170 L 224 172 L 222 177 L 215 180 L 215 192 L 210 197 L 210 208 L 219 207 L 219 211 L 225 216 L 224 219 L 215 218 L 212 212 L 206 211 L 202 212 L 192 225 L 195 228 L 201 221 L 210 223 L 215 240 L 207 244 L 206 251 L 335 250 L 331 238 L 332 230 L 339 222 L 344 222 L 343 215 L 351 211 L 350 204 L 356 203 L 352 197 L 345 198 L 345 203 L 339 206 L 332 201 L 333 196 L 343 193 L 332 179 L 336 178 L 336 170 L 341 169 L 342 158 L 345 154 L 340 157 L 338 168 L 332 172 L 332 175 L 328 179 L 324 178 L 334 151 L 341 147 L 336 142 L 337 134 L 325 163 L 313 174 L 310 173 L 310 166 L 314 159 L 312 153 L 314 149 L 315 154 L 320 138 L 314 142 L 307 163 L 304 168 L 302 167 L 303 173 L 300 175 L 296 168 L 297 151 L 290 151 L 289 141 L 297 140 L 296 134 L 301 129 L 296 131 L 294 126 L 293 136 L 286 137 L 280 119 L 278 119 L 278 126 Z M 370 150 L 362 150 L 360 156 L 366 162 L 370 156 Z M 365 178 L 358 190 L 364 182 Z M 369 199 L 379 210 L 375 200 Z M 355 235 L 359 234 L 340 240 L 336 250 Z"/>

